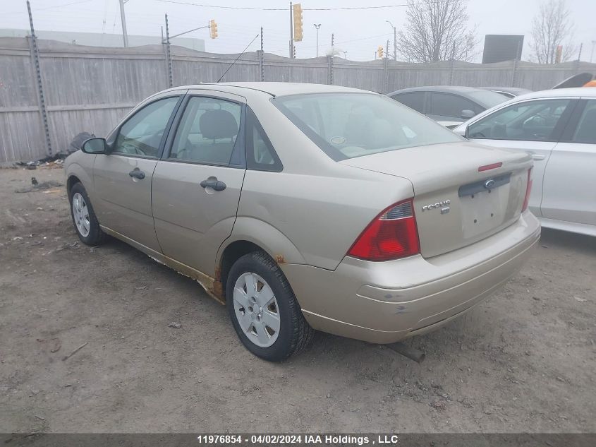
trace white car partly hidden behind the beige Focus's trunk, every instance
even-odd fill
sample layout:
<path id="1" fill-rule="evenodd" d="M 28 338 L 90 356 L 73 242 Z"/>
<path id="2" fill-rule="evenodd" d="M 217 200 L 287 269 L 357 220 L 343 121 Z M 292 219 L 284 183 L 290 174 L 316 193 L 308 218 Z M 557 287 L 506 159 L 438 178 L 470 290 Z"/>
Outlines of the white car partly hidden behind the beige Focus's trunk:
<path id="1" fill-rule="evenodd" d="M 530 153 L 530 210 L 542 226 L 596 236 L 596 90 L 516 97 L 454 131 L 483 145 Z"/>

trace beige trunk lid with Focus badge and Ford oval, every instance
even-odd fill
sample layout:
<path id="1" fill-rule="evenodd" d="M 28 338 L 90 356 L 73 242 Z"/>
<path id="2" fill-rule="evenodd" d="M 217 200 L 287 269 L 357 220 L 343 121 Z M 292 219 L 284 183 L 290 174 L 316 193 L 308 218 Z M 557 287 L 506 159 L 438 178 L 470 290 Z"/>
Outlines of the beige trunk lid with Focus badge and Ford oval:
<path id="1" fill-rule="evenodd" d="M 532 159 L 526 153 L 462 142 L 393 150 L 341 163 L 412 183 L 420 253 L 430 258 L 516 222 Z"/>

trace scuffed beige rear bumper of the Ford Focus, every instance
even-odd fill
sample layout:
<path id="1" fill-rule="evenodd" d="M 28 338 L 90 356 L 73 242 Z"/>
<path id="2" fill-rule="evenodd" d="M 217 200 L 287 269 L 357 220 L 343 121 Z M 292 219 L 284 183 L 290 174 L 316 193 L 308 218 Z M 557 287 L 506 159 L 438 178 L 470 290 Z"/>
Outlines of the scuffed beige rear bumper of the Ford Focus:
<path id="1" fill-rule="evenodd" d="M 310 326 L 391 343 L 439 328 L 482 302 L 521 268 L 539 238 L 540 224 L 526 211 L 492 237 L 433 258 L 346 256 L 336 270 L 281 268 Z"/>

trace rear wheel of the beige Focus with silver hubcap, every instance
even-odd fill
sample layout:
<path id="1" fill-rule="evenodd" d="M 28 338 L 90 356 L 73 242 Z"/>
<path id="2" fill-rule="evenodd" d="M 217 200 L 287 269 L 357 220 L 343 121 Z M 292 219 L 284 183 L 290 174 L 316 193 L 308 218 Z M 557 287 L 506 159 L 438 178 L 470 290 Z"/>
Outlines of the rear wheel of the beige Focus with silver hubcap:
<path id="1" fill-rule="evenodd" d="M 226 306 L 243 345 L 257 357 L 281 362 L 312 340 L 288 280 L 262 251 L 233 264 L 226 283 Z"/>

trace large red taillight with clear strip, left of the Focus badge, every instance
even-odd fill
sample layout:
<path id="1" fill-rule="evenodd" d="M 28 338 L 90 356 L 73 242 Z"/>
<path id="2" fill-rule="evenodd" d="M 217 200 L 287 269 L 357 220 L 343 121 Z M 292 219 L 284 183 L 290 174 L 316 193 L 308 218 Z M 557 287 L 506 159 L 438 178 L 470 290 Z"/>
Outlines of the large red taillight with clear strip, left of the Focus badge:
<path id="1" fill-rule="evenodd" d="M 375 217 L 348 251 L 366 261 L 389 261 L 420 253 L 412 199 L 396 203 Z"/>

